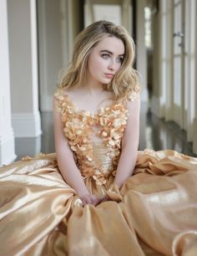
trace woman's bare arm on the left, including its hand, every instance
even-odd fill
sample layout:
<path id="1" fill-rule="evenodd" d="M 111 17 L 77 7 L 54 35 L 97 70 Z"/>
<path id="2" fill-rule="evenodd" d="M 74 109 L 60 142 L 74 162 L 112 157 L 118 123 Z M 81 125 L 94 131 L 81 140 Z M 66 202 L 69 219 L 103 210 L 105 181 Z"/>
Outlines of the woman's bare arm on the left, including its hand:
<path id="1" fill-rule="evenodd" d="M 63 176 L 63 179 L 68 183 L 70 187 L 77 192 L 78 197 L 83 202 L 97 205 L 101 198 L 93 196 L 83 182 L 83 177 L 78 170 L 78 167 L 73 159 L 73 151 L 71 151 L 68 145 L 68 140 L 63 134 L 63 123 L 61 120 L 61 114 L 57 109 L 58 102 L 53 99 L 53 123 L 54 123 L 54 139 L 55 149 L 57 153 L 58 167 Z"/>

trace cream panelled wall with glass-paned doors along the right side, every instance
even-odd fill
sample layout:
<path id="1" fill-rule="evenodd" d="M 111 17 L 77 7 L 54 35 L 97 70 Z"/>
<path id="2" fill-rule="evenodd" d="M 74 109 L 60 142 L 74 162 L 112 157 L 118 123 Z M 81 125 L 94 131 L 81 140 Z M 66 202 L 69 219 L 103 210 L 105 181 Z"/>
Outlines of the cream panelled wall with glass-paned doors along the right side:
<path id="1" fill-rule="evenodd" d="M 187 132 L 197 153 L 197 4 L 194 0 L 159 2 L 154 16 L 159 44 L 154 44 L 154 94 L 151 110 L 164 120 L 174 120 Z M 158 26 L 159 24 L 159 26 Z M 156 38 L 154 38 L 155 42 Z M 157 79 L 155 79 L 157 78 Z"/>

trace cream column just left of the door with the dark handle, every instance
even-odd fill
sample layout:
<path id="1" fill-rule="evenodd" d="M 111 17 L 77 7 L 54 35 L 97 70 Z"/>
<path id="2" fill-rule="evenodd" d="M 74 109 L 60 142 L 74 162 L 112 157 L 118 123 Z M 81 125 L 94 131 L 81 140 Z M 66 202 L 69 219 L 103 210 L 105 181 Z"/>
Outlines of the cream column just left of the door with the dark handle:
<path id="1" fill-rule="evenodd" d="M 173 118 L 172 4 L 171 0 L 161 2 L 160 11 L 154 17 L 154 90 L 157 88 L 158 95 L 153 97 L 152 110 L 166 121 Z"/>

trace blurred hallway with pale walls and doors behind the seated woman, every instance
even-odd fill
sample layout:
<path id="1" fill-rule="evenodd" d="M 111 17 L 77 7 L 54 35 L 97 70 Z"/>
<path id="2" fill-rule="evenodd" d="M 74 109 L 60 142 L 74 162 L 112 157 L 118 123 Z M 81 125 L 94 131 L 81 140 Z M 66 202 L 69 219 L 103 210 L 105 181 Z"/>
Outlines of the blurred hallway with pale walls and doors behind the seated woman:
<path id="1" fill-rule="evenodd" d="M 139 151 L 197 156 L 196 1 L 0 3 L 0 166 L 54 151 L 52 102 L 59 70 L 67 69 L 77 34 L 100 19 L 123 25 L 134 38 L 134 68 L 143 88 Z"/>

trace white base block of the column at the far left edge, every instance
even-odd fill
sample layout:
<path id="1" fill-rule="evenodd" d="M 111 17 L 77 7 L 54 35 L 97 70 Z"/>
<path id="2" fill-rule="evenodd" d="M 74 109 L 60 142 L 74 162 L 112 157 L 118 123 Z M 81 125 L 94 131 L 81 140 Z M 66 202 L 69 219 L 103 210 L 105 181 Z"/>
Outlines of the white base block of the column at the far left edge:
<path id="1" fill-rule="evenodd" d="M 8 165 L 16 159 L 14 136 L 11 130 L 6 136 L 0 136 L 0 166 Z"/>

